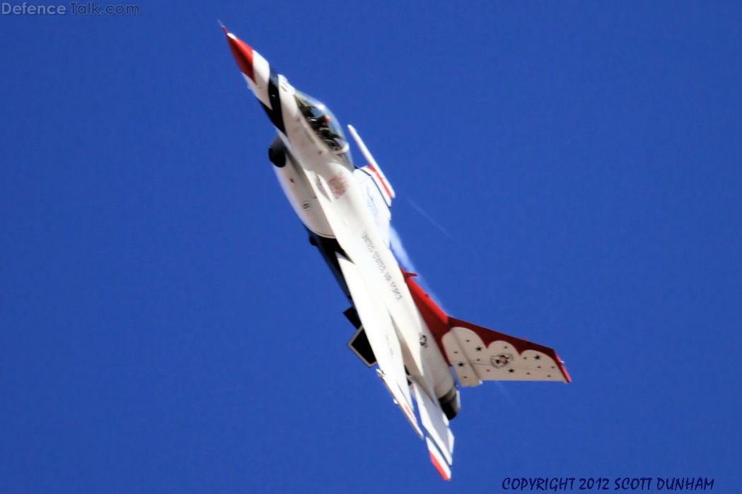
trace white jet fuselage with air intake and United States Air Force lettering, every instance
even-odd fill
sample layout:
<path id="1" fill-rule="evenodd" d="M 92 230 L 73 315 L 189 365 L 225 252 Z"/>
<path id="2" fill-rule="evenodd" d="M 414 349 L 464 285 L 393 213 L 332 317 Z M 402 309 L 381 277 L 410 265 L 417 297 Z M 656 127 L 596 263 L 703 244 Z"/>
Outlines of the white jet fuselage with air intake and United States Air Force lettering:
<path id="1" fill-rule="evenodd" d="M 267 94 L 269 67 L 257 52 L 253 57 L 257 82 L 246 80 L 269 111 L 275 105 Z M 280 98 L 283 123 L 277 131 L 290 153 L 286 165 L 275 167 L 286 197 L 306 228 L 340 242 L 369 289 L 381 297 L 393 320 L 407 372 L 430 395 L 446 395 L 456 386 L 453 373 L 407 289 L 388 235 L 379 231 L 366 188 L 358 183 L 349 161 L 334 154 L 309 127 L 292 85 L 283 76 L 273 77 L 274 88 L 278 86 L 273 97 L 274 101 L 275 96 Z"/>

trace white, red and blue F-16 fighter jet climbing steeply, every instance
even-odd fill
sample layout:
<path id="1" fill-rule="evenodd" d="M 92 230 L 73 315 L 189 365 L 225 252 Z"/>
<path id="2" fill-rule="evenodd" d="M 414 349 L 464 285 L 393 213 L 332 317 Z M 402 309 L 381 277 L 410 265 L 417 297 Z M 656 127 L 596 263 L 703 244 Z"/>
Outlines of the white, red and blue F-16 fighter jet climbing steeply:
<path id="1" fill-rule="evenodd" d="M 425 439 L 433 465 L 450 480 L 449 421 L 459 413 L 459 386 L 568 383 L 562 360 L 546 346 L 446 314 L 390 249 L 395 191 L 355 128 L 348 125 L 363 166 L 353 164 L 343 129 L 323 103 L 295 89 L 257 51 L 223 30 L 278 133 L 268 152 L 278 182 L 348 297 L 344 314 L 355 327 L 348 346 L 367 366 L 377 366 L 394 403 Z"/>

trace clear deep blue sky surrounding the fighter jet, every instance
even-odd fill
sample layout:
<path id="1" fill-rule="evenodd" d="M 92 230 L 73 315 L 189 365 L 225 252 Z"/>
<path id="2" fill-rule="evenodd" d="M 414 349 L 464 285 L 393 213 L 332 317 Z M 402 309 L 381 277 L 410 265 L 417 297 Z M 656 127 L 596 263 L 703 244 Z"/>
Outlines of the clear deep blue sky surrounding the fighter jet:
<path id="1" fill-rule="evenodd" d="M 217 19 L 358 128 L 450 314 L 565 360 L 569 385 L 463 389 L 452 483 L 345 346 Z M 0 16 L 0 491 L 739 492 L 741 25 L 732 1 Z"/>

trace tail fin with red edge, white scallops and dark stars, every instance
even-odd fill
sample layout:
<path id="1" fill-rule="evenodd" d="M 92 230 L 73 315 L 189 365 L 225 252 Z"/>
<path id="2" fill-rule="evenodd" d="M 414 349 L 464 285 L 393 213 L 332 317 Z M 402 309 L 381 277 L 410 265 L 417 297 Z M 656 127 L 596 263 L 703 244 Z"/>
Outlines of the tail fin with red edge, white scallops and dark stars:
<path id="1" fill-rule="evenodd" d="M 449 317 L 441 337 L 448 361 L 462 386 L 482 381 L 570 382 L 554 349 Z"/>

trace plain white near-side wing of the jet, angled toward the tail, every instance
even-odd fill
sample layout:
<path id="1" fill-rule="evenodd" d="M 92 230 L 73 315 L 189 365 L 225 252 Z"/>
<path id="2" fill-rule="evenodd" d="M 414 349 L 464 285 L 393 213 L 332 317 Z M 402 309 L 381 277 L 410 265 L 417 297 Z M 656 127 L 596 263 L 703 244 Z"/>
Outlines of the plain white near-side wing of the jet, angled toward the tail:
<path id="1" fill-rule="evenodd" d="M 389 389 L 394 403 L 410 421 L 415 432 L 422 437 L 417 418 L 413 412 L 413 401 L 410 387 L 407 384 L 407 372 L 399 345 L 399 338 L 392 319 L 384 303 L 367 289 L 358 267 L 342 254 L 336 254 L 340 269 L 348 285 L 353 305 L 364 326 L 366 337 L 378 363 L 378 376 Z"/>

